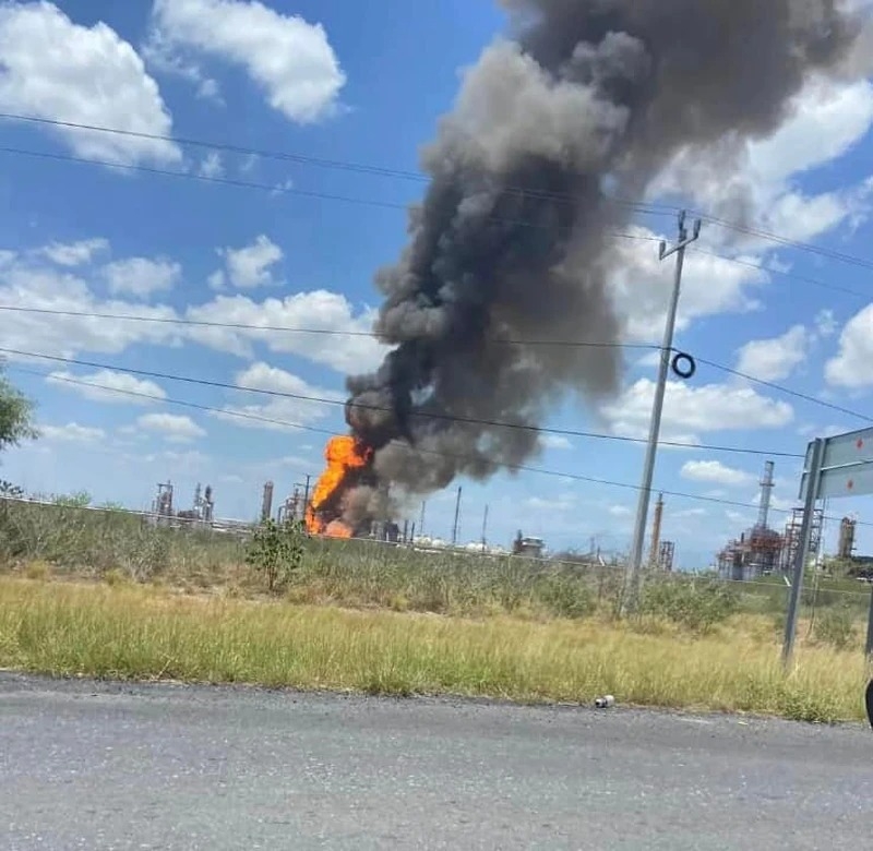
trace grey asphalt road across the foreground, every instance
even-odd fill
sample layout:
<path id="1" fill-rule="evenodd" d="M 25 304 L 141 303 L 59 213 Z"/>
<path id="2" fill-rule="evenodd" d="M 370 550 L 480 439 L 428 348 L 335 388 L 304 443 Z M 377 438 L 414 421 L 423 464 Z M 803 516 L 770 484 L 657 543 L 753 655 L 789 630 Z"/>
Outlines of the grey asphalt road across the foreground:
<path id="1" fill-rule="evenodd" d="M 863 849 L 873 732 L 0 674 L 0 848 Z"/>

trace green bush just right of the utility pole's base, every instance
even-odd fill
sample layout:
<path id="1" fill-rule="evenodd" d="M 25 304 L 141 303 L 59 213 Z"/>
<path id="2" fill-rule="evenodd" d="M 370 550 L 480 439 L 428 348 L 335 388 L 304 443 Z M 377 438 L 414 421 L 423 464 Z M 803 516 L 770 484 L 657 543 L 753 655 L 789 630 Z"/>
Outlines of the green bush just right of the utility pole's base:
<path id="1" fill-rule="evenodd" d="M 660 579 L 643 588 L 639 613 L 667 618 L 695 633 L 707 633 L 739 610 L 737 592 L 707 579 Z"/>

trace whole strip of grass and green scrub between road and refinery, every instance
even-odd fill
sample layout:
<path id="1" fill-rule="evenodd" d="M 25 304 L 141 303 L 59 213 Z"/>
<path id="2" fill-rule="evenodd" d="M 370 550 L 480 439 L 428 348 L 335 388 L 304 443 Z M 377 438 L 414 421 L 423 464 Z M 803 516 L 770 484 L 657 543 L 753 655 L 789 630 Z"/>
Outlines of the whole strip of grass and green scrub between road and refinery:
<path id="1" fill-rule="evenodd" d="M 820 590 L 812 623 L 810 590 L 785 674 L 779 587 L 655 583 L 645 614 L 618 624 L 614 568 L 313 542 L 270 599 L 240 542 L 64 511 L 63 524 L 0 518 L 0 666 L 518 700 L 609 692 L 625 705 L 862 716 L 865 597 L 849 588 Z"/>

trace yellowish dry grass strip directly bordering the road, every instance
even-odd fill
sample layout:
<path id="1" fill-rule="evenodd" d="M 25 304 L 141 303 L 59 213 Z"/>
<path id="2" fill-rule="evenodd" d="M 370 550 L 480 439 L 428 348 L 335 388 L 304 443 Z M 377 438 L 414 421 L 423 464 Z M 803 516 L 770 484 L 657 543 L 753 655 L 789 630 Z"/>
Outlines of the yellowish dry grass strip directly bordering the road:
<path id="1" fill-rule="evenodd" d="M 608 692 L 624 705 L 862 717 L 860 654 L 801 643 L 785 674 L 764 615 L 734 616 L 696 638 L 646 624 L 477 622 L 0 578 L 0 664 L 20 670 L 525 702 L 587 703 Z"/>

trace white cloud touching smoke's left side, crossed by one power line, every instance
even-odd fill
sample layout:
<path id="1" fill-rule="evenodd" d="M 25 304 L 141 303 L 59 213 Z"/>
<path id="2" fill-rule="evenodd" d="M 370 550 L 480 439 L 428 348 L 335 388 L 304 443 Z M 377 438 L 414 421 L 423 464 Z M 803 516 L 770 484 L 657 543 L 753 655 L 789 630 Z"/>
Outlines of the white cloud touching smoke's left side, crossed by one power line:
<path id="1" fill-rule="evenodd" d="M 342 372 L 374 369 L 387 348 L 372 335 L 371 313 L 355 315 L 348 300 L 337 292 L 314 290 L 285 299 L 255 302 L 243 296 L 219 296 L 189 308 L 186 317 L 196 322 L 249 325 L 247 328 L 191 326 L 189 335 L 205 346 L 252 357 L 254 341 L 276 353 L 299 355 Z M 276 332 L 264 328 L 304 328 L 326 333 Z"/>

